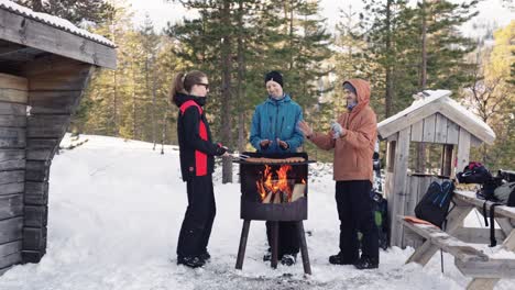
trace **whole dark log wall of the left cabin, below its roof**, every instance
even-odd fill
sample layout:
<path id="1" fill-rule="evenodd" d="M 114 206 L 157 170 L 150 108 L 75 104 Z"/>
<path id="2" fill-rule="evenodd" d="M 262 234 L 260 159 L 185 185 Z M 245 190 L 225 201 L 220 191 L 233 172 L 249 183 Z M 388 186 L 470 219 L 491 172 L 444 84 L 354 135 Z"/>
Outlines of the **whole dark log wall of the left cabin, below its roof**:
<path id="1" fill-rule="evenodd" d="M 48 174 L 94 67 L 47 55 L 0 74 L 0 274 L 46 253 Z"/>

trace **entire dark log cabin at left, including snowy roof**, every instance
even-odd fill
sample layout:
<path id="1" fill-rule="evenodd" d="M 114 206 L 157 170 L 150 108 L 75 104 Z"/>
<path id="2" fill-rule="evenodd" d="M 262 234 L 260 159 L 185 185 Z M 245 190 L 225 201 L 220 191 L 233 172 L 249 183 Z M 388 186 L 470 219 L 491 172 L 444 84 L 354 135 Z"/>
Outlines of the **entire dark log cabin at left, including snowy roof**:
<path id="1" fill-rule="evenodd" d="M 48 170 L 96 67 L 114 44 L 0 0 L 0 274 L 46 252 Z"/>

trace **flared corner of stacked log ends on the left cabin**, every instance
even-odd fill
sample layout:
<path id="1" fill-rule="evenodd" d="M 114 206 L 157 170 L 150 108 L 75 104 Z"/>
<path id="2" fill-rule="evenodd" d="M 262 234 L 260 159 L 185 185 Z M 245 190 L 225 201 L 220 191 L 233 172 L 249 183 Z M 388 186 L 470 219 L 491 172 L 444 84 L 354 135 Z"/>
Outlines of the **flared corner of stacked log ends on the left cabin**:
<path id="1" fill-rule="evenodd" d="M 48 174 L 52 158 L 69 126 L 94 67 L 50 55 L 26 65 L 25 215 L 22 257 L 39 263 L 46 253 Z"/>

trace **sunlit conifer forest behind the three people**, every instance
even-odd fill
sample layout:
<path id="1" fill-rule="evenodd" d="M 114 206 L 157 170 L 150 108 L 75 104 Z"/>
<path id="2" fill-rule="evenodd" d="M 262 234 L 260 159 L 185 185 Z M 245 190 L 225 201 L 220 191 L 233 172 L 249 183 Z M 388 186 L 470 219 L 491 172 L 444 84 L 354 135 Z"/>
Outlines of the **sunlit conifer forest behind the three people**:
<path id="1" fill-rule="evenodd" d="M 15 2 L 118 45 L 118 69 L 95 75 L 72 124 L 75 134 L 176 144 L 172 78 L 200 69 L 213 88 L 208 111 L 215 138 L 243 152 L 250 148 L 252 112 L 266 97 L 263 76 L 276 69 L 316 130 L 327 130 L 344 108 L 342 81 L 360 77 L 372 83 L 379 121 L 408 107 L 418 91 L 449 89 L 496 134 L 495 144 L 476 148 L 471 160 L 506 169 L 515 153 L 515 22 L 473 22 L 476 0 L 365 0 L 363 11 L 351 5 L 340 11 L 336 31 L 327 29 L 320 1 L 179 1 L 198 16 L 168 23 L 163 31 L 150 16 L 133 24 L 129 1 Z M 503 5 L 514 9 L 513 1 Z M 476 33 L 465 37 L 460 26 L 471 21 Z M 305 146 L 330 160 L 311 144 Z"/>

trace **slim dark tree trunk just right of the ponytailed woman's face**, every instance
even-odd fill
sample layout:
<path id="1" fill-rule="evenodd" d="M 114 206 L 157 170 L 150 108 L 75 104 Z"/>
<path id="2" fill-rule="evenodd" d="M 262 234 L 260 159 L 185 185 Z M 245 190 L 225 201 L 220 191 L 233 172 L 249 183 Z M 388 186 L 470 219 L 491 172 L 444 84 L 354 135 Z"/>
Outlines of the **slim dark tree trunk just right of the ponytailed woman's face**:
<path id="1" fill-rule="evenodd" d="M 231 1 L 224 0 L 222 7 L 222 27 L 231 29 Z M 227 146 L 232 146 L 232 124 L 231 124 L 231 33 L 226 33 L 221 43 L 221 66 L 222 66 L 222 88 L 221 88 L 221 127 L 222 142 Z M 222 158 L 222 183 L 232 182 L 232 160 L 231 157 Z"/>

